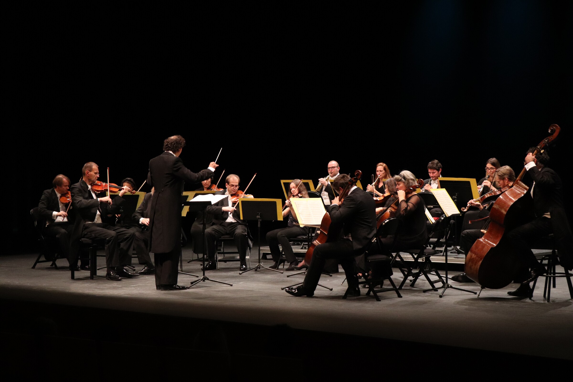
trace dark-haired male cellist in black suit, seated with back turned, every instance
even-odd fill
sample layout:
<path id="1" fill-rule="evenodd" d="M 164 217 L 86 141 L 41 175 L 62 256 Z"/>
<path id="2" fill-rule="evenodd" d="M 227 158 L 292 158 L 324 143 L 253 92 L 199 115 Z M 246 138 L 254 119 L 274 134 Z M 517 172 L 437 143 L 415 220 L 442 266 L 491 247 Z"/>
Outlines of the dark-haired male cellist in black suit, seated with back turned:
<path id="1" fill-rule="evenodd" d="M 340 174 L 332 186 L 340 193 L 343 187 L 350 187 L 350 177 Z M 369 194 L 352 186 L 348 195 L 339 201 L 338 197 L 332 200 L 332 205 L 327 208 L 332 220 L 331 231 L 334 226 L 342 226 L 343 237 L 334 242 L 317 245 L 312 255 L 311 264 L 308 267 L 303 285 L 286 288 L 285 291 L 292 296 L 313 296 L 327 259 L 336 259 L 340 262 L 346 273 L 348 282 L 348 294 L 360 296 L 358 277 L 355 272 L 355 256 L 360 256 L 367 249 L 372 238 L 376 234 L 376 215 L 374 212 L 374 200 Z"/>

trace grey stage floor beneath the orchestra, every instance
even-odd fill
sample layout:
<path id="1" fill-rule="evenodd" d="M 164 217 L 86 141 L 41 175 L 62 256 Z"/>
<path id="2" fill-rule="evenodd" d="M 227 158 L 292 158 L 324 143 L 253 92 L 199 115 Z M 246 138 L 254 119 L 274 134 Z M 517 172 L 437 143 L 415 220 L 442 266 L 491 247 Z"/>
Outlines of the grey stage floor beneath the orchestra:
<path id="1" fill-rule="evenodd" d="M 425 281 L 419 281 L 416 288 L 406 283 L 403 298 L 386 292 L 377 302 L 368 296 L 342 300 L 346 290 L 346 283 L 341 285 L 342 270 L 320 279 L 333 288 L 332 292 L 319 287 L 315 296 L 308 298 L 289 296 L 281 290 L 282 286 L 303 281 L 303 275 L 286 278 L 289 273 L 270 270 L 239 275 L 238 262 L 221 263 L 221 269 L 207 272 L 209 277 L 233 286 L 207 281 L 182 292 L 160 292 L 155 290 L 153 276 L 112 282 L 102 277 L 104 270 L 100 270 L 97 279 L 90 280 L 88 272 L 81 271 L 72 280 L 67 269 L 55 270 L 49 263 L 30 269 L 35 258 L 33 254 L 0 257 L 2 298 L 262 325 L 288 324 L 298 329 L 573 359 L 573 302 L 568 299 L 564 279 L 558 279 L 551 302 L 543 300 L 543 282 L 529 300 L 507 295 L 517 288 L 516 284 L 486 289 L 479 298 L 452 289 L 444 298 L 438 298 L 438 292 L 422 293 L 428 287 Z M 191 252 L 184 249 L 183 258 L 190 259 Z M 100 263 L 103 261 L 99 258 Z M 271 264 L 270 260 L 263 262 Z M 65 264 L 65 260 L 60 261 L 60 265 Z M 183 270 L 201 274 L 199 262 L 183 264 Z M 251 264 L 256 264 L 255 256 Z M 397 283 L 402 281 L 398 274 L 395 270 Z M 194 279 L 179 275 L 180 284 Z M 452 285 L 479 290 L 476 284 Z M 540 334 L 542 337 L 538 337 Z"/>

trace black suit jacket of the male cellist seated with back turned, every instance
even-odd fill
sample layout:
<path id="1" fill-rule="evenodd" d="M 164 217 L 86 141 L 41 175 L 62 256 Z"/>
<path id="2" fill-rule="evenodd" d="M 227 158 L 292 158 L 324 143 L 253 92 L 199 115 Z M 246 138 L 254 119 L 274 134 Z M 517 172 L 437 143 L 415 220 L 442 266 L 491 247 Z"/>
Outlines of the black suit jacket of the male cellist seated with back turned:
<path id="1" fill-rule="evenodd" d="M 354 255 L 362 255 L 376 234 L 376 205 L 372 196 L 357 187 L 340 206 L 329 206 L 328 213 L 332 225 L 344 224 L 344 235 L 351 235 Z"/>

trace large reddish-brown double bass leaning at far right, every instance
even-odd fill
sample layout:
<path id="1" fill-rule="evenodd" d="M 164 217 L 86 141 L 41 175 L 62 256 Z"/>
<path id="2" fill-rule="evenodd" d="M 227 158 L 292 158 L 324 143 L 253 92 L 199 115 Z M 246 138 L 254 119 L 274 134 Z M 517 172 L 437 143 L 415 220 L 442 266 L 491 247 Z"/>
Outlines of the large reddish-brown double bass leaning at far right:
<path id="1" fill-rule="evenodd" d="M 549 127 L 551 135 L 536 146 L 533 156 L 555 140 L 560 129 L 559 125 L 551 125 Z M 493 203 L 489 214 L 488 230 L 474 243 L 466 255 L 466 275 L 483 288 L 504 288 L 513 281 L 513 276 L 519 267 L 518 254 L 515 253 L 515 248 L 507 237 L 504 237 L 504 234 L 523 225 L 531 217 L 533 200 L 528 192 L 529 187 L 521 182 L 525 172 L 523 168 L 513 182 L 513 186 L 503 192 Z"/>

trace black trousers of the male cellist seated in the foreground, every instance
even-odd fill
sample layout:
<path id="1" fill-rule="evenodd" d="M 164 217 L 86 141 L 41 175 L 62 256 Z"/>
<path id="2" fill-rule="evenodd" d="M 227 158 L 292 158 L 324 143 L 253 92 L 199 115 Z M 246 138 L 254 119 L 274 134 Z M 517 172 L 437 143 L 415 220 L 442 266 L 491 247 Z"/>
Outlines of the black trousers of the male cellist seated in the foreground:
<path id="1" fill-rule="evenodd" d="M 303 287 L 306 290 L 315 290 L 319 283 L 320 274 L 328 259 L 336 259 L 346 274 L 348 288 L 358 286 L 354 261 L 354 250 L 350 239 L 340 239 L 332 243 L 317 245 L 312 254 L 311 265 L 308 266 L 307 275 L 304 278 Z"/>

